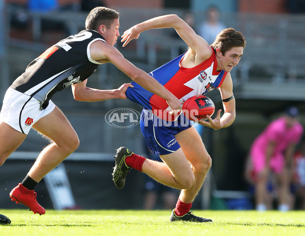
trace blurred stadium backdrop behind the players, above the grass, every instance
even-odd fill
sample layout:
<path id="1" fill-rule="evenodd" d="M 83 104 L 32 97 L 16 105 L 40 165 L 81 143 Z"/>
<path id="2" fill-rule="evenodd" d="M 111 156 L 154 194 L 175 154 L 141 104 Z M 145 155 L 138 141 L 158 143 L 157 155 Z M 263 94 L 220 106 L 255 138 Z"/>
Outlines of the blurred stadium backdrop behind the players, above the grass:
<path id="1" fill-rule="evenodd" d="M 216 9 L 214 15 L 208 13 L 211 5 Z M 204 128 L 202 132 L 202 139 L 212 158 L 212 168 L 193 208 L 253 209 L 253 192 L 245 179 L 252 142 L 289 106 L 299 109 L 300 123 L 305 124 L 305 1 L 0 0 L 0 100 L 3 100 L 11 83 L 44 50 L 84 30 L 85 18 L 96 6 L 109 7 L 120 13 L 121 35 L 136 23 L 174 13 L 185 19 L 207 41 L 208 37 L 215 39 L 215 35 L 205 35 L 206 31 L 218 34 L 224 27 L 233 27 L 245 36 L 247 46 L 244 54 L 231 72 L 236 120 L 228 128 L 218 131 Z M 209 21 L 218 28 L 209 26 Z M 115 46 L 146 72 L 187 50 L 187 45 L 173 29 L 144 32 L 127 47 L 121 45 L 118 41 Z M 110 89 L 130 81 L 116 67 L 105 64 L 89 78 L 87 84 Z M 207 96 L 214 101 L 216 110 L 222 109 L 218 91 Z M 72 203 L 62 208 L 143 209 L 150 204 L 146 200 L 154 201 L 149 207 L 151 209 L 171 207 L 158 197 L 161 192 L 150 198 L 144 197 L 149 188 L 143 173 L 131 171 L 125 188 L 121 190 L 112 183 L 115 148 L 127 146 L 135 153 L 149 154 L 146 153 L 139 125 L 116 128 L 105 121 L 105 115 L 114 108 L 131 108 L 141 112 L 140 106 L 129 100 L 77 102 L 73 99 L 71 88 L 57 93 L 52 101 L 67 115 L 80 139 L 78 150 L 64 161 L 66 177 L 63 178 L 68 178 L 68 184 L 60 180 L 53 183 L 55 188 L 68 186 L 67 194 L 72 194 L 69 195 L 73 198 Z M 20 204 L 12 204 L 9 192 L 23 180 L 38 153 L 47 144 L 47 140 L 32 130 L 0 167 L 0 208 L 20 207 Z M 56 173 L 53 174 L 56 176 Z M 45 208 L 60 209 L 52 197 L 55 190 L 50 189 L 52 184 L 45 179 L 36 188 L 37 199 Z M 276 193 L 274 197 L 277 198 Z M 172 204 L 175 201 L 174 197 Z M 300 201 L 296 196 L 294 209 L 301 209 Z"/>

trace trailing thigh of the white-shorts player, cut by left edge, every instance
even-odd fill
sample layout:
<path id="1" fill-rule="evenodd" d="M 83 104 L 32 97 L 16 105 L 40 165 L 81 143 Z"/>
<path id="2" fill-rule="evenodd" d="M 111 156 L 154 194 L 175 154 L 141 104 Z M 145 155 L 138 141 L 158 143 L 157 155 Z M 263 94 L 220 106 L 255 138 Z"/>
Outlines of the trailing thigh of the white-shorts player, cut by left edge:
<path id="1" fill-rule="evenodd" d="M 5 159 L 14 152 L 23 142 L 26 134 L 23 134 L 8 124 L 0 122 L 0 159 Z"/>

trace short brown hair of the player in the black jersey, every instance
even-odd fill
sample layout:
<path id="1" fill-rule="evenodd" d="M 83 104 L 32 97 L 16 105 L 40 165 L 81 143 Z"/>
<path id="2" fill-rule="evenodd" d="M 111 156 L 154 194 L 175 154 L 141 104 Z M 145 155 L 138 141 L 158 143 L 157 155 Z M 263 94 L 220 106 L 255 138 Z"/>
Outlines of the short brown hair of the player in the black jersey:
<path id="1" fill-rule="evenodd" d="M 101 24 L 109 28 L 115 19 L 119 19 L 117 11 L 106 7 L 96 7 L 89 12 L 86 18 L 86 30 L 98 31 Z"/>

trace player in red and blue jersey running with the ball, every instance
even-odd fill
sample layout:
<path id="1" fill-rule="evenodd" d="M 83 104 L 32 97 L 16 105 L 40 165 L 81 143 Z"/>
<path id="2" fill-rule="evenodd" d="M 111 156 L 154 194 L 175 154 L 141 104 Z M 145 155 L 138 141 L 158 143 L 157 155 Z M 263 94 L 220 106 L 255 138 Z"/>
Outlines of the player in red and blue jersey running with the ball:
<path id="1" fill-rule="evenodd" d="M 240 32 L 226 28 L 211 45 L 177 15 L 165 15 L 139 23 L 122 36 L 123 46 L 137 39 L 141 32 L 153 28 L 175 28 L 177 34 L 189 46 L 185 54 L 151 72 L 164 87 L 181 102 L 218 88 L 222 97 L 224 114 L 218 110 L 214 120 L 198 121 L 200 125 L 215 130 L 230 126 L 235 119 L 235 99 L 230 71 L 238 65 L 246 41 Z M 172 115 L 164 99 L 132 82 L 126 91 L 128 99 L 143 106 L 141 131 L 150 150 L 159 154 L 163 162 L 145 159 L 119 147 L 115 155 L 113 181 L 123 188 L 126 175 L 131 168 L 143 171 L 160 183 L 181 189 L 176 208 L 170 221 L 209 222 L 190 212 L 192 202 L 198 194 L 206 173 L 211 166 L 201 137 L 190 121 L 182 114 Z M 183 120 L 183 121 L 182 121 Z"/>

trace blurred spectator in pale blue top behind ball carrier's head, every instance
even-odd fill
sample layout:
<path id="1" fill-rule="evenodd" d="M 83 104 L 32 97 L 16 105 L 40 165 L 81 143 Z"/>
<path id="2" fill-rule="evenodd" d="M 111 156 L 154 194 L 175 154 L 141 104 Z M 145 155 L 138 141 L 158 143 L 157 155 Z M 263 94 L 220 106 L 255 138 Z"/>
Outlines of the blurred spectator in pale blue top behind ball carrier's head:
<path id="1" fill-rule="evenodd" d="M 220 10 L 217 6 L 211 5 L 206 10 L 206 20 L 199 27 L 199 35 L 206 40 L 208 44 L 215 41 L 216 36 L 226 26 L 219 21 Z"/>

